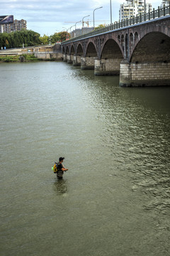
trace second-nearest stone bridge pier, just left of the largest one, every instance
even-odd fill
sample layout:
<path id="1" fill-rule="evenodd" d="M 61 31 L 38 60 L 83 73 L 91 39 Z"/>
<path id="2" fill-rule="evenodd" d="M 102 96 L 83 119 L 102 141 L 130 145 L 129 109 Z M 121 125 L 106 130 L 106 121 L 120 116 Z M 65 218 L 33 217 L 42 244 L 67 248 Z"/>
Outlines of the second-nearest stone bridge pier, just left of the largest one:
<path id="1" fill-rule="evenodd" d="M 101 59 L 94 62 L 94 75 L 119 75 L 120 59 Z"/>

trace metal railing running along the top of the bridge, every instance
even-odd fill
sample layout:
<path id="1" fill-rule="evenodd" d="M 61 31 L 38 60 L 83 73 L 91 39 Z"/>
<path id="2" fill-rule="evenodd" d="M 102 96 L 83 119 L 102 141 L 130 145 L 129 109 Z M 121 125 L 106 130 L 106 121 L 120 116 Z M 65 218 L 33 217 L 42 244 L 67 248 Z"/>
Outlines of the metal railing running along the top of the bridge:
<path id="1" fill-rule="evenodd" d="M 149 11 L 149 13 L 147 13 L 147 14 L 143 14 L 143 15 L 140 14 L 140 15 L 137 15 L 137 16 L 135 16 L 133 18 L 130 18 L 130 19 L 127 18 L 124 21 L 123 20 L 119 21 L 119 22 L 116 21 L 115 23 L 112 23 L 108 26 L 105 26 L 104 28 L 99 28 L 96 31 L 91 31 L 90 33 L 86 33 L 86 34 L 83 34 L 81 36 L 71 38 L 67 41 L 62 42 L 62 45 L 64 45 L 65 43 L 71 43 L 72 41 L 76 41 L 76 40 L 79 40 L 81 38 L 95 36 L 95 35 L 98 35 L 100 33 L 113 31 L 113 30 L 116 30 L 118 28 L 124 28 L 126 26 L 132 26 L 132 25 L 135 25 L 137 23 L 150 21 L 154 18 L 160 18 L 160 17 L 166 16 L 166 15 L 170 15 L 170 3 L 169 3 L 169 6 L 164 6 L 163 8 L 160 8 L 158 6 L 157 10 L 153 9 L 153 11 Z"/>

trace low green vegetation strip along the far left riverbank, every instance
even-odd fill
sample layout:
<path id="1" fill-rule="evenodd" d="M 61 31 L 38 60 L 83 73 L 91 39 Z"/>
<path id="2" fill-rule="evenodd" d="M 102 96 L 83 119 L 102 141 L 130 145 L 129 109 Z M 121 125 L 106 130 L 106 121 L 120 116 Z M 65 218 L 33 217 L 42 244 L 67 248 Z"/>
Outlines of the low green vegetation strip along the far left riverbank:
<path id="1" fill-rule="evenodd" d="M 14 55 L 0 56 L 0 63 L 16 63 L 16 62 L 35 62 L 35 61 L 55 61 L 55 58 L 37 58 L 35 55 Z"/>

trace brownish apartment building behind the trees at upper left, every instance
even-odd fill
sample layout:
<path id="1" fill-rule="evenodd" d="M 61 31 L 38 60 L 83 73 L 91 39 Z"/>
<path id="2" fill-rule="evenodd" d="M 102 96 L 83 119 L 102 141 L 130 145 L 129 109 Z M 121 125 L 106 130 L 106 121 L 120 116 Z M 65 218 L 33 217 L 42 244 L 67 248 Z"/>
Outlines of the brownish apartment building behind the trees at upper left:
<path id="1" fill-rule="evenodd" d="M 11 33 L 13 31 L 21 31 L 21 29 L 27 29 L 27 21 L 21 19 L 21 21 L 14 20 L 13 23 L 4 24 L 3 31 L 5 33 Z"/>

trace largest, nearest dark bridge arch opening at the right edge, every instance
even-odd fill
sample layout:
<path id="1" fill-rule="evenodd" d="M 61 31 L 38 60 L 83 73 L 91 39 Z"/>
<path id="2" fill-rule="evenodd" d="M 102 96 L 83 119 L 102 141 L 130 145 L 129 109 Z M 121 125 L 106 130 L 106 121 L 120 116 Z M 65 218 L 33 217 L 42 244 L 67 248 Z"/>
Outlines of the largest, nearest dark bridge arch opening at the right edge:
<path id="1" fill-rule="evenodd" d="M 130 55 L 131 63 L 157 63 L 169 60 L 170 37 L 162 32 L 147 33 L 137 42 Z"/>

